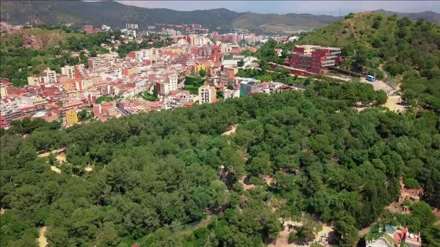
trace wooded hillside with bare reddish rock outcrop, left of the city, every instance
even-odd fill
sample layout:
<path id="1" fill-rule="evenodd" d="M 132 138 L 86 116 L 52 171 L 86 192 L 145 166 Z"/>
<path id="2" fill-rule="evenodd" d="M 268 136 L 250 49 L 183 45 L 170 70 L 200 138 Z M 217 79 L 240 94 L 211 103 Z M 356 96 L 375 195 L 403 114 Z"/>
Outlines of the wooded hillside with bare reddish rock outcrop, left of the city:
<path id="1" fill-rule="evenodd" d="M 66 64 L 83 63 L 87 66 L 88 57 L 84 51 L 81 51 L 80 58 L 72 58 L 70 51 L 88 49 L 88 56 L 106 53 L 108 50 L 100 44 L 109 43 L 107 39 L 110 37 L 110 33 L 85 35 L 65 26 L 1 34 L 0 76 L 14 86 L 25 86 L 28 76 L 38 76 L 47 67 L 61 73 L 61 67 Z"/>

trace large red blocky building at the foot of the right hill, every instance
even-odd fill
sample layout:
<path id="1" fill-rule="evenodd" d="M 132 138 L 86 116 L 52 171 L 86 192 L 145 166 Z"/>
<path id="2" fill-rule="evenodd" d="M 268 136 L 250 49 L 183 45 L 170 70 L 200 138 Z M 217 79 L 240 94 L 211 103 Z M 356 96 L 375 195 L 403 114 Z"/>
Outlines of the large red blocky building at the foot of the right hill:
<path id="1" fill-rule="evenodd" d="M 291 66 L 311 73 L 327 73 L 329 67 L 342 62 L 341 49 L 318 45 L 295 45 Z"/>

